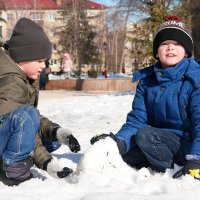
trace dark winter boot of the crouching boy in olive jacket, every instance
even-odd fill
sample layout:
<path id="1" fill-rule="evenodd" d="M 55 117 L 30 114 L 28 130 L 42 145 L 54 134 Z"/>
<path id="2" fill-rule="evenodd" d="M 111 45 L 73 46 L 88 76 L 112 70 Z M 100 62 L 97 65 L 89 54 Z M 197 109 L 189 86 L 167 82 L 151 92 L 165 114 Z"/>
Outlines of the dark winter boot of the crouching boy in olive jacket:
<path id="1" fill-rule="evenodd" d="M 0 163 L 0 181 L 5 185 L 14 186 L 33 178 L 30 168 L 33 166 L 33 159 L 28 157 L 25 160 L 12 164 Z"/>

